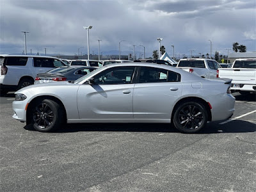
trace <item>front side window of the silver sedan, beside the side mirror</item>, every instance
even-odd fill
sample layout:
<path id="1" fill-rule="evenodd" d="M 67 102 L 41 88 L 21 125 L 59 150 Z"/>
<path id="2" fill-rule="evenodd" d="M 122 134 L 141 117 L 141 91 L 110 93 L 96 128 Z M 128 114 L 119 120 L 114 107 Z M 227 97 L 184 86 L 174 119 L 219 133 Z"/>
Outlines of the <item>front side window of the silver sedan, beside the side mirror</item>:
<path id="1" fill-rule="evenodd" d="M 132 82 L 135 67 L 113 67 L 94 76 L 95 84 L 127 84 Z"/>

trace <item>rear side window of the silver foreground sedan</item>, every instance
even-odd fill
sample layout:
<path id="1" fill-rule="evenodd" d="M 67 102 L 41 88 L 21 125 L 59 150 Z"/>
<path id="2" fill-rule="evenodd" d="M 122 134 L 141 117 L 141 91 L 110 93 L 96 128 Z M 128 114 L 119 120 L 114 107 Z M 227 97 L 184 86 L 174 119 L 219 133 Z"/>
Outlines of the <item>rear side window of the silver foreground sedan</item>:
<path id="1" fill-rule="evenodd" d="M 180 74 L 171 70 L 154 67 L 141 67 L 139 83 L 160 83 L 160 82 L 178 82 Z"/>

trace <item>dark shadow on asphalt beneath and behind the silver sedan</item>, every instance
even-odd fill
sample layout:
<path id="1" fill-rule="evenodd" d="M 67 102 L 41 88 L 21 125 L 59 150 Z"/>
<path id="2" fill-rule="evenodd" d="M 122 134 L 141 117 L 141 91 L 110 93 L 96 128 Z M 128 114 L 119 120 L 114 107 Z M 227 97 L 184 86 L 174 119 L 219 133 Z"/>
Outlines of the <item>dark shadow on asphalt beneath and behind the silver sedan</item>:
<path id="1" fill-rule="evenodd" d="M 26 125 L 24 129 L 35 131 L 32 125 Z M 217 134 L 232 132 L 255 132 L 256 125 L 234 120 L 220 125 L 220 122 L 211 122 L 196 134 Z M 53 132 L 179 132 L 170 124 L 67 124 Z M 180 133 L 182 134 L 182 133 Z"/>

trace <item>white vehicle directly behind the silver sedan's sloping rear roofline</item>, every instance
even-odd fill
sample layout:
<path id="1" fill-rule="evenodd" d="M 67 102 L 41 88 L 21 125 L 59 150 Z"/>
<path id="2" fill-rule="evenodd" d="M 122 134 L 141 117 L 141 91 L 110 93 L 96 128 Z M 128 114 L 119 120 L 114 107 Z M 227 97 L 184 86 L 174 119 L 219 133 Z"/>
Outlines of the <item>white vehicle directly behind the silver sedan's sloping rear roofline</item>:
<path id="1" fill-rule="evenodd" d="M 215 60 L 192 58 L 179 60 L 177 67 L 206 79 L 216 79 L 217 70 L 221 66 Z"/>

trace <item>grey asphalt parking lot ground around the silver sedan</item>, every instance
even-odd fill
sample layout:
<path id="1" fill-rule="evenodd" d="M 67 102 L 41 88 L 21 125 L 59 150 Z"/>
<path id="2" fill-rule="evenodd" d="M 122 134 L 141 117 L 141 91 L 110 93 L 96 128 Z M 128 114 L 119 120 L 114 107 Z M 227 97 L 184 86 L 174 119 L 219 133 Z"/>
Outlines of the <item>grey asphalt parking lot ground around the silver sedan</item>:
<path id="1" fill-rule="evenodd" d="M 71 124 L 42 133 L 0 99 L 1 191 L 255 191 L 256 95 L 198 134 L 166 124 Z"/>

